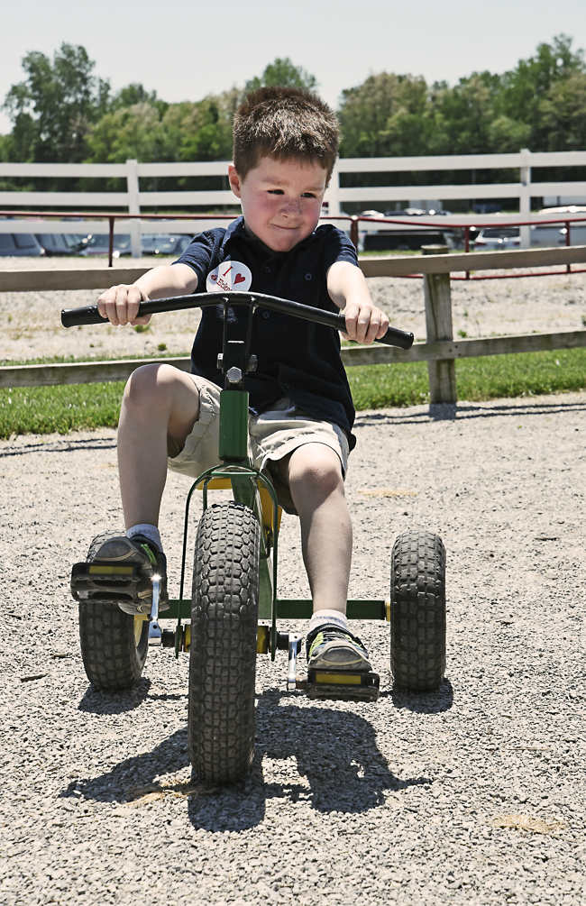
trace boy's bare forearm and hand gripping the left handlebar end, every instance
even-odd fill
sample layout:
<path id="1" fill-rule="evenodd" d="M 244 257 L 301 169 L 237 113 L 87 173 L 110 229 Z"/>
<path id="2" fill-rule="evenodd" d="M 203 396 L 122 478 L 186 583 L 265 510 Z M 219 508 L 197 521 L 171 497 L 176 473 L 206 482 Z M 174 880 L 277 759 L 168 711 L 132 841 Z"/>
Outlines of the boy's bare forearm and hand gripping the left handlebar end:
<path id="1" fill-rule="evenodd" d="M 112 324 L 146 324 L 150 315 L 137 318 L 139 304 L 147 299 L 189 295 L 197 290 L 197 274 L 189 265 L 159 265 L 136 283 L 110 286 L 98 299 L 98 311 Z"/>

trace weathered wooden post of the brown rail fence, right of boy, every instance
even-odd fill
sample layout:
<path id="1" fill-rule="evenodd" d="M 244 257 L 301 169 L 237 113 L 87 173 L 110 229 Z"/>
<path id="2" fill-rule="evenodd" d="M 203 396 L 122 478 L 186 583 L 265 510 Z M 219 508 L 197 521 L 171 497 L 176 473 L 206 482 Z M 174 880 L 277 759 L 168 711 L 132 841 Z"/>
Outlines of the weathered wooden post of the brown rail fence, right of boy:
<path id="1" fill-rule="evenodd" d="M 422 246 L 424 255 L 447 255 L 447 246 Z M 427 342 L 453 340 L 452 293 L 449 274 L 424 274 Z M 456 362 L 453 359 L 428 361 L 429 402 L 456 403 Z"/>

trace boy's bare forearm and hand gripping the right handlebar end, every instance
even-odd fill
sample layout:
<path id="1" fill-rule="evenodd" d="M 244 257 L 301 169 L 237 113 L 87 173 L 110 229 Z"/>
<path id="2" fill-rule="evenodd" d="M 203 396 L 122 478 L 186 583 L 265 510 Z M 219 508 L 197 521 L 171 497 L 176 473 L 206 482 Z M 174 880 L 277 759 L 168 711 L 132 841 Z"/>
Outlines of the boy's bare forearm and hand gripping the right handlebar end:
<path id="1" fill-rule="evenodd" d="M 387 333 L 389 318 L 370 301 L 369 287 L 360 267 L 336 261 L 326 276 L 332 302 L 346 317 L 346 340 L 371 343 Z"/>

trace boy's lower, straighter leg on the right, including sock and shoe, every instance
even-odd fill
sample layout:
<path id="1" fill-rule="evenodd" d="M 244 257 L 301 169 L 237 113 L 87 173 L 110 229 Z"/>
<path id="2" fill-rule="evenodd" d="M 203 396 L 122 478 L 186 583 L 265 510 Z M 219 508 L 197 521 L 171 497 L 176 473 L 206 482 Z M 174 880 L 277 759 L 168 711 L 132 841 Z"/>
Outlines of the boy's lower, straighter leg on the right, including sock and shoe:
<path id="1" fill-rule="evenodd" d="M 312 590 L 308 666 L 370 670 L 368 653 L 346 620 L 352 525 L 340 458 L 326 444 L 309 443 L 279 465 L 300 517 L 303 562 Z"/>

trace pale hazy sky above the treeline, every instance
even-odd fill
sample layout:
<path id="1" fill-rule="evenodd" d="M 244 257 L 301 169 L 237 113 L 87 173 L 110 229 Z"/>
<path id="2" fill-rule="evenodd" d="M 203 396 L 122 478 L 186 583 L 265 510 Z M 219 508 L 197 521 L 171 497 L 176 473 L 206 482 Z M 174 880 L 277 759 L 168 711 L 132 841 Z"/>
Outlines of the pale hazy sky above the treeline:
<path id="1" fill-rule="evenodd" d="M 0 101 L 29 51 L 82 44 L 114 90 L 130 82 L 165 101 L 198 101 L 243 85 L 288 56 L 312 72 L 332 106 L 376 72 L 457 82 L 504 72 L 556 34 L 586 48 L 585 0 L 26 0 L 3 6 Z M 0 111 L 0 132 L 10 121 Z"/>

